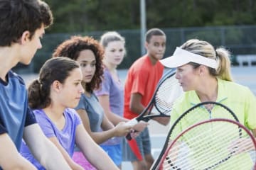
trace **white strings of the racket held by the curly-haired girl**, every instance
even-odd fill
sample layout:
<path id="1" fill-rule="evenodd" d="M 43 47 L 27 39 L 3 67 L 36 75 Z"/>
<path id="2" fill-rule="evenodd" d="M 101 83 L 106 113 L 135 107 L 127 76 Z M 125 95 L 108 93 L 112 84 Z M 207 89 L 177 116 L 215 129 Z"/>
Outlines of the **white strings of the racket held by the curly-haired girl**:
<path id="1" fill-rule="evenodd" d="M 156 91 L 155 107 L 160 113 L 170 115 L 171 108 L 176 98 L 181 96 L 182 88 L 175 77 L 168 77 Z"/>

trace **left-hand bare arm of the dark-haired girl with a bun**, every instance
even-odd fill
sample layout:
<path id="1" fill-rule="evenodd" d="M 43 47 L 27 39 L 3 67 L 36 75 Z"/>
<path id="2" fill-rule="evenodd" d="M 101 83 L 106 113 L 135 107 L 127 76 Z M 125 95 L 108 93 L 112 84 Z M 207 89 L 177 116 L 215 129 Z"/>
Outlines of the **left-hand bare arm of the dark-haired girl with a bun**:
<path id="1" fill-rule="evenodd" d="M 58 139 L 56 137 L 49 137 L 48 139 L 51 142 L 53 142 L 55 147 L 57 147 L 59 149 L 59 151 L 61 152 L 61 154 L 63 155 L 65 161 L 68 163 L 68 165 L 71 167 L 71 169 L 73 169 L 73 170 L 75 170 L 75 169 L 82 170 L 83 169 L 82 166 L 80 166 L 79 164 L 76 164 L 73 161 L 73 159 L 70 157 L 68 152 L 66 152 L 65 149 L 60 145 L 60 142 L 58 142 Z"/>

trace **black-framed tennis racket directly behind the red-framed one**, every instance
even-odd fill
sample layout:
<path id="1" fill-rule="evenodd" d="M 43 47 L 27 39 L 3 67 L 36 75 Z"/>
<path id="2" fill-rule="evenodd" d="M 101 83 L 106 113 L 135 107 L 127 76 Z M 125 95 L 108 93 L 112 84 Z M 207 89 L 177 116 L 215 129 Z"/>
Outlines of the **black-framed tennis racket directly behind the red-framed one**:
<path id="1" fill-rule="evenodd" d="M 177 137 L 177 135 L 182 132 L 182 130 L 185 130 L 191 125 L 204 120 L 210 120 L 212 118 L 228 118 L 230 120 L 239 122 L 235 113 L 233 113 L 230 108 L 221 103 L 207 101 L 196 104 L 195 106 L 182 113 L 174 122 L 174 124 L 171 125 L 171 128 L 166 137 L 166 141 L 164 142 L 164 147 L 161 150 L 159 157 L 157 157 L 154 164 L 151 166 L 151 170 L 159 169 L 159 162 L 161 157 L 163 157 L 164 152 L 171 143 L 171 140 L 174 140 L 175 137 Z"/>

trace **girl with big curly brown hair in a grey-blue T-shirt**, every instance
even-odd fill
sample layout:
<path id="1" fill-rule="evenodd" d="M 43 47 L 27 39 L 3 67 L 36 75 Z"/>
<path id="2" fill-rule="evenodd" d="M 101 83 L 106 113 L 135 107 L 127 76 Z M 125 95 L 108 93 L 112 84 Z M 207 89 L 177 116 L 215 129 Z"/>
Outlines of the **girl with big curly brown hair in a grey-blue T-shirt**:
<path id="1" fill-rule="evenodd" d="M 80 115 L 85 129 L 97 144 L 101 144 L 112 137 L 122 137 L 131 131 L 131 126 L 124 122 L 115 127 L 105 116 L 104 110 L 94 94 L 102 82 L 103 49 L 97 40 L 90 37 L 73 36 L 61 43 L 53 53 L 53 57 L 69 57 L 77 61 L 82 69 L 82 94 L 75 110 Z M 85 169 L 93 169 L 80 151 L 73 155 L 75 162 Z"/>

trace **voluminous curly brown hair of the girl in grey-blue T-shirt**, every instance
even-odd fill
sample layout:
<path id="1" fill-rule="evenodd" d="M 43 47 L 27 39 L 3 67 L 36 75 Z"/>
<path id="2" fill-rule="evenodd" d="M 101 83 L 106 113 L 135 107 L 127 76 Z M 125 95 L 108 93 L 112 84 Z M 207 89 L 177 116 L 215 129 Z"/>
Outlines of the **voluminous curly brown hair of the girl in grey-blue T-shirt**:
<path id="1" fill-rule="evenodd" d="M 72 36 L 69 40 L 62 42 L 53 52 L 53 57 L 68 57 L 72 60 L 78 60 L 82 50 L 92 50 L 96 60 L 95 75 L 90 83 L 83 83 L 84 89 L 92 92 L 100 88 L 103 78 L 102 59 L 104 50 L 100 43 L 91 37 Z"/>

